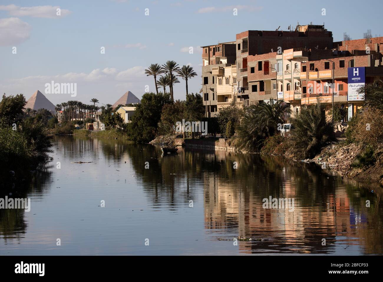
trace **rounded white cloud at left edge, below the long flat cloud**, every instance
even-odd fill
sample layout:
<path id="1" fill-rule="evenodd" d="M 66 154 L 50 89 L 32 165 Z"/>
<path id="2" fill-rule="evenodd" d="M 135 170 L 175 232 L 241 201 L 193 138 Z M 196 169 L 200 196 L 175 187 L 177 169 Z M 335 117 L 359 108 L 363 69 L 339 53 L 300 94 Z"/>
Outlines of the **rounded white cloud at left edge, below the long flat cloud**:
<path id="1" fill-rule="evenodd" d="M 31 26 L 19 18 L 3 18 L 0 30 L 0 46 L 17 45 L 29 38 Z"/>

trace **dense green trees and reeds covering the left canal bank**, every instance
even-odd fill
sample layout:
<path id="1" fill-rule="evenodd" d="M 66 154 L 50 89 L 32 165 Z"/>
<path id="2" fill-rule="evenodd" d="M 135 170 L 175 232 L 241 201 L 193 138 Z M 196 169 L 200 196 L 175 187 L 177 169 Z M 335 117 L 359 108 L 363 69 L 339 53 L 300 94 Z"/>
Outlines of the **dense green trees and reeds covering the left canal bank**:
<path id="1" fill-rule="evenodd" d="M 3 95 L 0 102 L 0 186 L 26 178 L 30 170 L 49 160 L 51 134 L 48 130 L 51 114 L 45 110 L 23 112 L 26 104 L 23 94 Z"/>

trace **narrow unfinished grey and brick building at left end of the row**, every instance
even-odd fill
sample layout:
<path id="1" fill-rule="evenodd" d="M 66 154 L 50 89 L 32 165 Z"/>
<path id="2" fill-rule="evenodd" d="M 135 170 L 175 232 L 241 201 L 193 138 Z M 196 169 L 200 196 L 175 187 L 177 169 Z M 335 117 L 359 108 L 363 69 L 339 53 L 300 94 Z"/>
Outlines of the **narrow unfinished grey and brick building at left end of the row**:
<path id="1" fill-rule="evenodd" d="M 203 46 L 202 48 L 202 88 L 205 116 L 213 117 L 217 114 L 218 77 L 224 73 L 223 68 L 235 65 L 235 41 Z M 230 74 L 232 76 L 232 74 Z M 225 80 L 226 82 L 226 80 Z"/>

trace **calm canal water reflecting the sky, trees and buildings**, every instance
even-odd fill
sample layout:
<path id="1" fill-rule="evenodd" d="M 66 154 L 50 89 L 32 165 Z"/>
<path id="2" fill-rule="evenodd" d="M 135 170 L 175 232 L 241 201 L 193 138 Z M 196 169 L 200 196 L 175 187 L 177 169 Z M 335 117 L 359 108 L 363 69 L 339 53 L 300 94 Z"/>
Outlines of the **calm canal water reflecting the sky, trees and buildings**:
<path id="1" fill-rule="evenodd" d="M 383 253 L 381 188 L 314 164 L 88 137 L 52 149 L 12 190 L 31 210 L 0 209 L 1 255 Z"/>

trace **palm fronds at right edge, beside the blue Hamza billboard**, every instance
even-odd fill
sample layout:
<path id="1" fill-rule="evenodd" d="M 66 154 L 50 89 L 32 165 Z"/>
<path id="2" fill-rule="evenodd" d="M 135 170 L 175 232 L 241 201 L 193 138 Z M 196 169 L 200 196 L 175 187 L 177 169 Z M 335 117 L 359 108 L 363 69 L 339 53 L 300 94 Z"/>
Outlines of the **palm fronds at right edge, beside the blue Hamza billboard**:
<path id="1" fill-rule="evenodd" d="M 359 87 L 358 94 L 365 94 L 364 106 L 383 110 L 383 80 L 381 78 L 376 78 L 372 83 Z"/>

